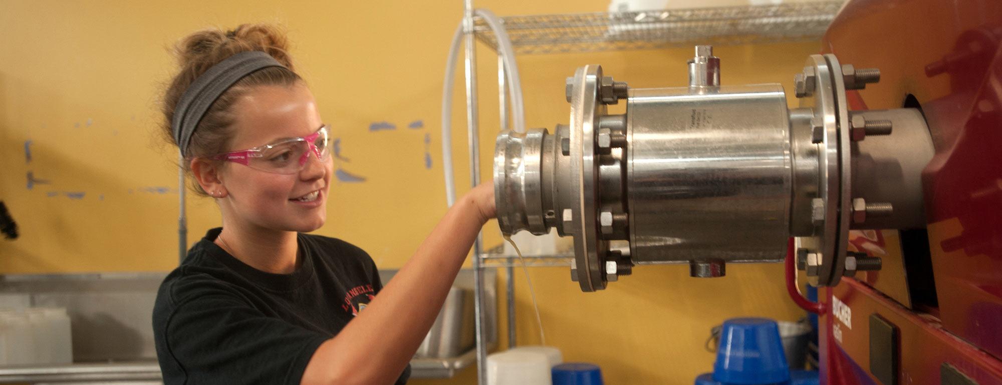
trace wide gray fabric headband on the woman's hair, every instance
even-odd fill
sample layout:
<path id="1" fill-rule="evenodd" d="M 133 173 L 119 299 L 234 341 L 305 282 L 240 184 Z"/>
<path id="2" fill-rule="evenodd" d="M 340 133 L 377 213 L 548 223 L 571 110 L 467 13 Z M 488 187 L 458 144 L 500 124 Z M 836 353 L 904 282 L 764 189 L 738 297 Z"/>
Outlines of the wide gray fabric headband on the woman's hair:
<path id="1" fill-rule="evenodd" d="M 226 92 L 229 87 L 244 76 L 268 67 L 286 68 L 272 55 L 265 52 L 240 52 L 213 65 L 188 86 L 184 95 L 177 101 L 177 106 L 174 107 L 174 116 L 170 121 L 174 143 L 177 143 L 181 156 L 187 156 L 191 134 L 194 133 L 194 128 L 198 126 L 201 117 L 205 115 L 215 99 L 218 99 L 219 95 Z"/>

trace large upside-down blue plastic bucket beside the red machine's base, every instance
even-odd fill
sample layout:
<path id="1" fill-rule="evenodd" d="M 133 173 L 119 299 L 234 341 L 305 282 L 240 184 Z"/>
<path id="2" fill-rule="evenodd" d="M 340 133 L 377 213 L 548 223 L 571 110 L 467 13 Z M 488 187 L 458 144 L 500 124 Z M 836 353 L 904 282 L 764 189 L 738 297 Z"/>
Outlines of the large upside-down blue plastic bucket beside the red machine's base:
<path id="1" fill-rule="evenodd" d="M 776 384 L 790 380 L 790 365 L 776 321 L 734 318 L 723 322 L 713 380 L 726 384 Z"/>

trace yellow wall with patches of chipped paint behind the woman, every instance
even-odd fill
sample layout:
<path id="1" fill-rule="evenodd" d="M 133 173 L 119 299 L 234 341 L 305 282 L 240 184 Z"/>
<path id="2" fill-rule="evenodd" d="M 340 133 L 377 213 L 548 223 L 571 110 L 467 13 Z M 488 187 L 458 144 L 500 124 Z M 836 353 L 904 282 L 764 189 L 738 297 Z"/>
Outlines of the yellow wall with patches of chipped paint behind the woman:
<path id="1" fill-rule="evenodd" d="M 596 12 L 607 0 L 482 0 L 499 15 Z M 0 12 L 0 200 L 22 236 L 0 241 L 0 272 L 163 271 L 176 264 L 174 152 L 161 139 L 156 99 L 173 71 L 166 52 L 206 26 L 286 25 L 294 58 L 366 178 L 336 183 L 318 231 L 399 267 L 445 210 L 439 100 L 447 45 L 462 2 L 5 1 Z M 780 82 L 816 43 L 718 47 L 725 84 Z M 495 57 L 481 46 L 481 148 L 489 173 L 497 125 Z M 529 126 L 567 122 L 564 77 L 586 63 L 633 87 L 679 86 L 690 49 L 523 56 Z M 461 74 L 461 71 L 460 71 Z M 457 96 L 462 87 L 456 88 Z M 457 98 L 454 122 L 464 126 Z M 408 124 L 420 120 L 421 129 Z M 370 131 L 376 122 L 396 130 Z M 425 135 L 430 143 L 425 144 Z M 26 159 L 25 143 L 31 152 Z M 459 185 L 468 184 L 465 128 L 453 137 Z M 425 154 L 432 159 L 425 167 Z M 27 174 L 37 182 L 27 187 Z M 79 194 L 83 193 L 82 196 Z M 189 202 L 189 241 L 218 224 L 211 201 Z M 487 227 L 497 244 L 496 225 Z M 780 265 L 732 265 L 721 279 L 685 266 L 641 267 L 610 289 L 582 294 L 566 268 L 532 269 L 547 342 L 565 358 L 602 366 L 609 384 L 685 384 L 710 369 L 709 327 L 734 316 L 794 320 Z M 503 284 L 503 283 L 502 283 Z M 524 278 L 518 338 L 538 342 Z M 502 313 L 502 320 L 503 320 Z M 504 322 L 502 322 L 504 327 Z M 475 382 L 473 370 L 451 381 Z"/>

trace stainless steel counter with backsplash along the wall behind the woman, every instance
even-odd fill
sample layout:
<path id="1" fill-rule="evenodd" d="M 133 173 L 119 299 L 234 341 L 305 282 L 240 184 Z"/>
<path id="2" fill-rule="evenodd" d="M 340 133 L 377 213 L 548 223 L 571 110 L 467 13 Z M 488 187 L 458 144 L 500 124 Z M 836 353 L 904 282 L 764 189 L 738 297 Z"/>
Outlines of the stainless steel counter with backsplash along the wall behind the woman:
<path id="1" fill-rule="evenodd" d="M 380 270 L 388 282 L 395 270 Z M 0 276 L 0 307 L 65 307 L 73 341 L 71 365 L 0 367 L 0 383 L 158 383 L 152 311 L 166 273 L 94 273 Z M 497 341 L 497 273 L 485 271 L 487 334 Z M 473 289 L 473 271 L 454 284 Z M 451 358 L 415 358 L 412 378 L 449 378 L 476 362 L 474 350 Z"/>

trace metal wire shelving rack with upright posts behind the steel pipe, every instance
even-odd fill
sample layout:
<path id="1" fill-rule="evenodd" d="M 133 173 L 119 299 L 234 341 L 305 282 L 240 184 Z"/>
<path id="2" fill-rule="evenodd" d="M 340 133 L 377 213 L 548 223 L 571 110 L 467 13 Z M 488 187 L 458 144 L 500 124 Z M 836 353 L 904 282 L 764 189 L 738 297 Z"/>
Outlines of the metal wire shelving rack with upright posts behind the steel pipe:
<path id="1" fill-rule="evenodd" d="M 795 2 L 694 9 L 671 9 L 621 13 L 582 13 L 502 17 L 512 48 L 517 55 L 559 54 L 634 49 L 684 47 L 695 44 L 715 46 L 817 41 L 844 5 L 844 0 Z M 498 52 L 497 37 L 487 23 L 474 15 L 473 0 L 464 0 L 466 116 L 470 135 L 471 179 L 479 182 L 478 105 L 476 76 L 477 40 Z M 498 87 L 502 130 L 508 129 L 508 85 L 501 57 L 498 57 Z M 476 307 L 476 358 L 478 381 L 486 383 L 484 370 L 487 338 L 484 335 L 482 280 L 485 269 L 506 268 L 508 341 L 515 345 L 514 272 L 520 261 L 504 253 L 502 247 L 482 249 L 482 237 L 474 244 L 473 269 Z M 532 256 L 526 266 L 570 266 L 573 255 Z"/>

